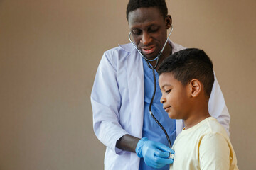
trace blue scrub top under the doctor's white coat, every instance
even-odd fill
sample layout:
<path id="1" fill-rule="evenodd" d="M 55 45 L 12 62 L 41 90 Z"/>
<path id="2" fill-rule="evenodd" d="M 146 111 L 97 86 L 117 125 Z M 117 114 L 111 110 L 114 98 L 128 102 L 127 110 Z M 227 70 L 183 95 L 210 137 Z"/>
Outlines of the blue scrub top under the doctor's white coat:
<path id="1" fill-rule="evenodd" d="M 143 120 L 143 128 L 142 128 L 142 137 L 147 137 L 149 140 L 153 140 L 156 142 L 161 142 L 166 146 L 169 146 L 168 140 L 166 139 L 166 135 L 164 135 L 164 131 L 161 127 L 154 121 L 154 119 L 149 114 L 149 103 L 151 101 L 151 97 L 154 93 L 154 75 L 152 70 L 147 66 L 146 61 L 143 60 L 143 69 L 144 69 L 144 120 Z M 169 118 L 168 114 L 164 111 L 163 105 L 160 103 L 161 98 L 161 90 L 159 88 L 159 75 L 155 71 L 156 74 L 156 95 L 154 97 L 153 105 L 151 106 L 151 111 L 156 117 L 157 120 L 163 125 L 167 134 L 170 137 L 171 145 L 174 144 L 174 140 L 176 139 L 176 125 L 175 120 Z M 139 163 L 139 169 L 154 169 L 150 166 L 147 166 L 144 162 L 144 159 L 141 158 Z M 158 170 L 167 170 L 169 169 L 169 165 L 164 166 Z"/>

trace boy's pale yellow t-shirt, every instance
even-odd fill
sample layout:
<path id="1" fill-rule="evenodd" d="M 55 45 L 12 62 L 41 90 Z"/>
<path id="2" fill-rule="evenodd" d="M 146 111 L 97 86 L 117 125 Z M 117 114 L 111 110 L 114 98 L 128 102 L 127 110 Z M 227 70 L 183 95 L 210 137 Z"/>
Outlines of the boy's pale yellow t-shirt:
<path id="1" fill-rule="evenodd" d="M 228 134 L 213 117 L 182 130 L 172 149 L 175 154 L 170 170 L 238 169 Z"/>

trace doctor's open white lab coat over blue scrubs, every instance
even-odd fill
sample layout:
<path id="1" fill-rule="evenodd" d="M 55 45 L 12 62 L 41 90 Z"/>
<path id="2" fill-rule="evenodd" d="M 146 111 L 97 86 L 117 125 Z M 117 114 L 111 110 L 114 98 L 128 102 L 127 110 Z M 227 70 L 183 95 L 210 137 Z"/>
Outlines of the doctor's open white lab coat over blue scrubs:
<path id="1" fill-rule="evenodd" d="M 184 49 L 169 43 L 172 53 Z M 95 135 L 107 147 L 105 169 L 139 169 L 136 153 L 115 147 L 125 134 L 142 137 L 144 71 L 142 57 L 132 44 L 119 45 L 105 52 L 97 69 L 91 102 Z M 209 112 L 228 132 L 230 115 L 217 79 L 210 95 Z M 183 121 L 176 120 L 177 135 L 182 128 Z"/>

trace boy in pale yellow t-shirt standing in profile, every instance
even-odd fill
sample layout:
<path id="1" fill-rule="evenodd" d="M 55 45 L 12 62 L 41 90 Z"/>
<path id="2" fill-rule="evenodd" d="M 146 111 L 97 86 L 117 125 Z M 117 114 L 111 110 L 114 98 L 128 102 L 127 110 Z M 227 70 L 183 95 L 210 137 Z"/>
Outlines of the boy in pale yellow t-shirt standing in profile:
<path id="1" fill-rule="evenodd" d="M 172 147 L 170 169 L 238 169 L 227 132 L 208 112 L 214 74 L 206 53 L 181 50 L 167 57 L 158 72 L 164 110 L 185 125 Z"/>

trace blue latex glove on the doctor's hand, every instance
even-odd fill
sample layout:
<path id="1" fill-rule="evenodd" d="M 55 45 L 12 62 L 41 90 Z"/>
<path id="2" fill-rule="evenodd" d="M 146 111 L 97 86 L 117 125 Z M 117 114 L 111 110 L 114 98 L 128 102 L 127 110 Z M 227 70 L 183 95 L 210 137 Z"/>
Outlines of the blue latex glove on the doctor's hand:
<path id="1" fill-rule="evenodd" d="M 143 137 L 135 149 L 138 157 L 153 168 L 161 168 L 174 162 L 174 150 L 160 142 L 154 142 Z M 171 158 L 170 157 L 171 154 Z"/>

